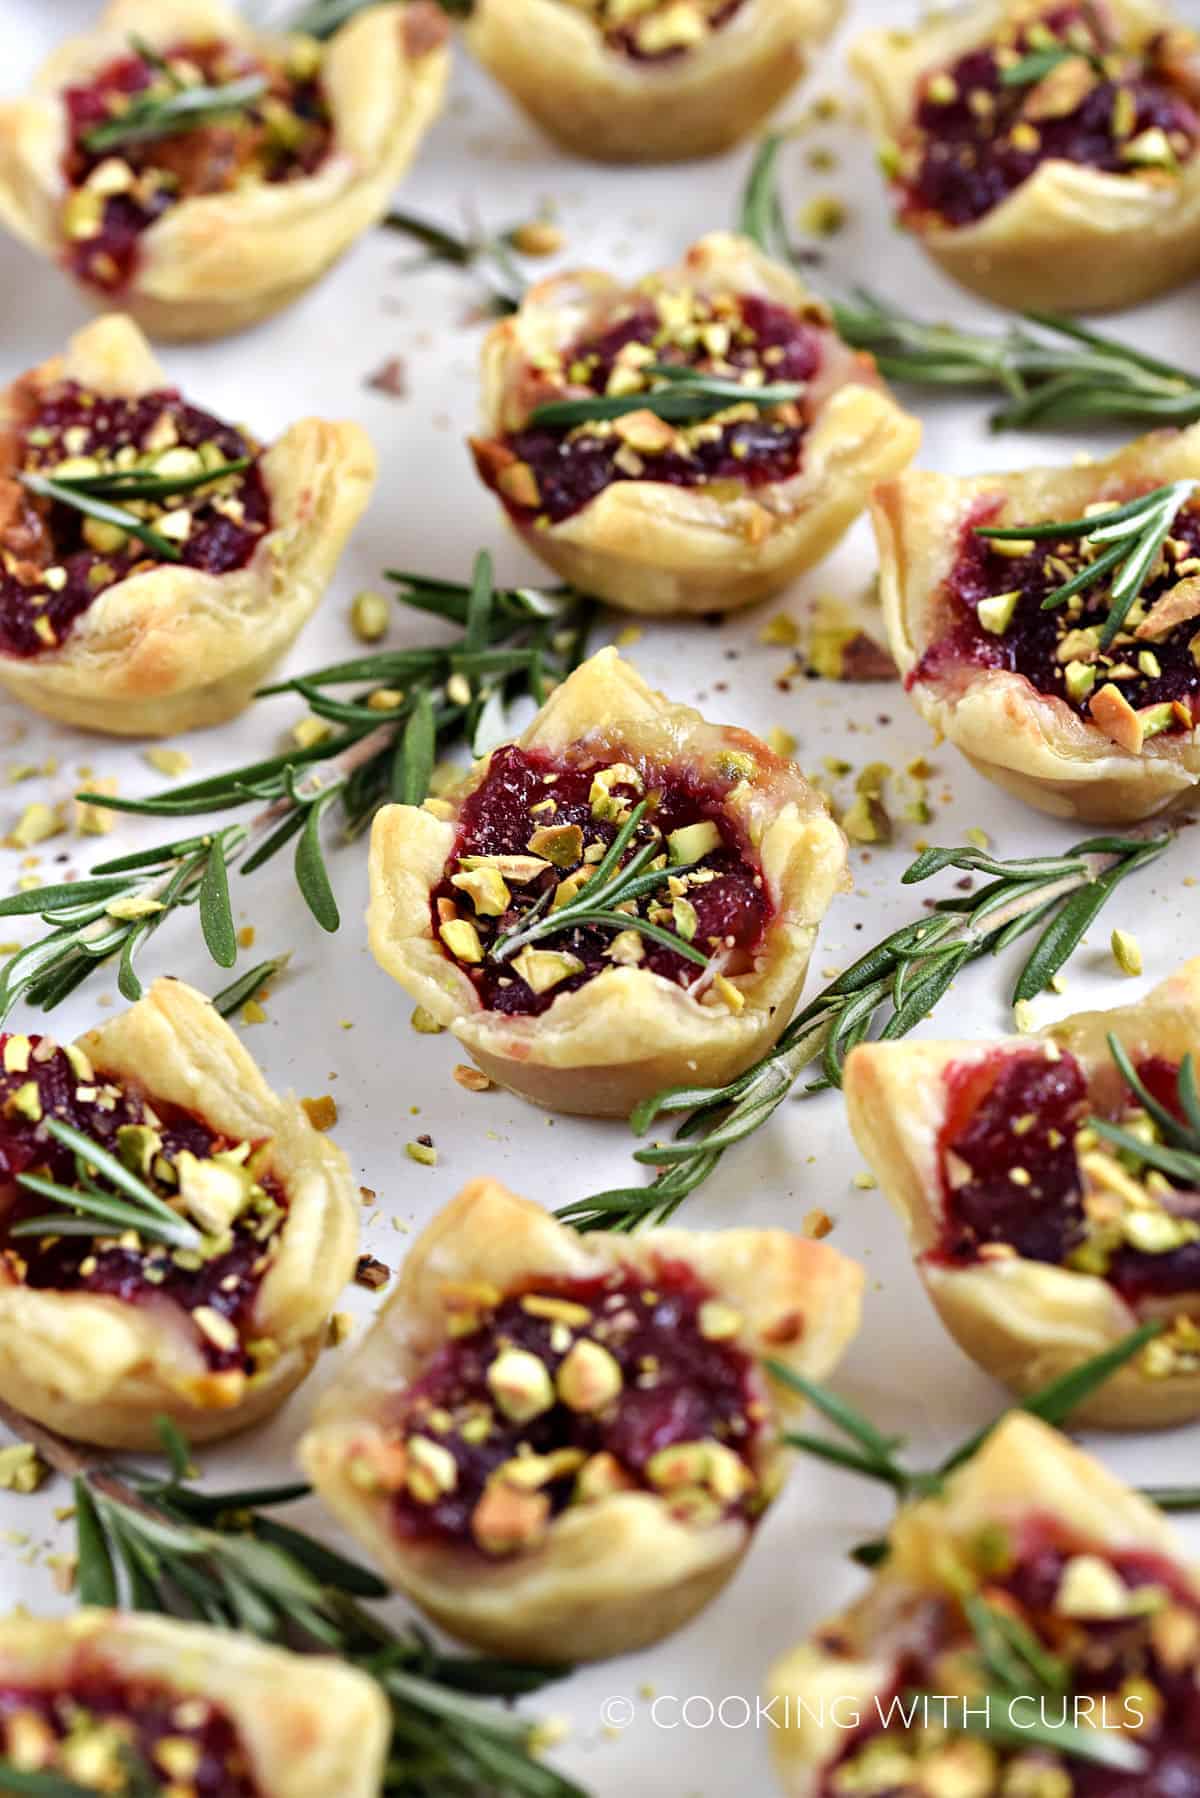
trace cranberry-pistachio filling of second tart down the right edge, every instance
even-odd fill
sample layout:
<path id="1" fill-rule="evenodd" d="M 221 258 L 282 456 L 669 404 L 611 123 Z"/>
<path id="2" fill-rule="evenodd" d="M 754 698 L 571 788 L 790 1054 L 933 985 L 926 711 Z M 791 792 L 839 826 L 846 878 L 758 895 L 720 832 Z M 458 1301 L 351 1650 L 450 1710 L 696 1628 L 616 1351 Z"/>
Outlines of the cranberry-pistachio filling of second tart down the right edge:
<path id="1" fill-rule="evenodd" d="M 1191 604 L 1178 606 L 1175 626 L 1160 629 L 1151 613 L 1175 590 L 1189 592 L 1193 577 L 1200 575 L 1200 505 L 1187 505 L 1177 516 L 1126 628 L 1108 649 L 1099 645 L 1110 604 L 1106 581 L 1054 611 L 1042 610 L 1042 601 L 1083 565 L 1079 545 L 1042 541 L 1029 554 L 1006 556 L 1002 548 L 1011 545 L 997 547 L 979 536 L 981 525 L 999 521 L 999 509 L 988 505 L 986 516 L 981 509 L 964 525 L 957 561 L 943 588 L 950 626 L 925 653 L 910 681 L 937 680 L 973 662 L 1024 674 L 1040 694 L 1061 699 L 1083 717 L 1099 692 L 1115 687 L 1141 716 L 1146 735 L 1191 728 L 1200 719 L 1200 593 L 1195 611 Z M 1024 520 L 1013 520 L 1020 523 Z M 1013 593 L 1018 597 L 1009 611 L 1004 599 Z M 990 601 L 1000 602 L 999 617 Z"/>

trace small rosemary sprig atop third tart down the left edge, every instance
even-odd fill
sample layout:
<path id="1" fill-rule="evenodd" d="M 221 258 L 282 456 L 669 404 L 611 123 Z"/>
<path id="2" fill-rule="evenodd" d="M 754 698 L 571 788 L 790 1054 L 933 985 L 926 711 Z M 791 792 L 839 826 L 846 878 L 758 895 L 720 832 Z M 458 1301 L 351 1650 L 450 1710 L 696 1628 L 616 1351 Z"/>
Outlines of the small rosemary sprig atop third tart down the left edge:
<path id="1" fill-rule="evenodd" d="M 9 1226 L 13 1237 L 41 1235 L 121 1235 L 137 1230 L 146 1242 L 200 1250 L 203 1237 L 180 1217 L 153 1187 L 140 1179 L 115 1154 L 61 1118 L 45 1118 L 43 1127 L 63 1149 L 76 1156 L 77 1183 L 63 1187 L 43 1174 L 18 1174 L 16 1185 L 65 1206 L 40 1217 L 22 1217 Z M 101 1187 L 104 1179 L 108 1185 Z"/>

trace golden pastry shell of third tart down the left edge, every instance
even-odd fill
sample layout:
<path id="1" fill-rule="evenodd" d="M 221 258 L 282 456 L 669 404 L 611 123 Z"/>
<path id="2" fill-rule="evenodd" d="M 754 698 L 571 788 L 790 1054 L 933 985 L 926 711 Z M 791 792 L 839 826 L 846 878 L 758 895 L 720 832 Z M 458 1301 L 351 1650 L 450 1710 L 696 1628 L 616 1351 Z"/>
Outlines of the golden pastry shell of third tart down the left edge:
<path id="1" fill-rule="evenodd" d="M 345 1156 L 293 1099 L 270 1090 L 219 1012 L 178 980 L 157 980 L 79 1046 L 97 1073 L 140 1088 L 151 1104 L 182 1106 L 234 1140 L 270 1138 L 268 1170 L 290 1205 L 254 1323 L 279 1357 L 230 1395 L 175 1307 L 0 1278 L 0 1395 L 59 1435 L 103 1447 L 155 1447 L 160 1413 L 193 1442 L 246 1429 L 304 1379 L 354 1271 L 360 1205 Z"/>

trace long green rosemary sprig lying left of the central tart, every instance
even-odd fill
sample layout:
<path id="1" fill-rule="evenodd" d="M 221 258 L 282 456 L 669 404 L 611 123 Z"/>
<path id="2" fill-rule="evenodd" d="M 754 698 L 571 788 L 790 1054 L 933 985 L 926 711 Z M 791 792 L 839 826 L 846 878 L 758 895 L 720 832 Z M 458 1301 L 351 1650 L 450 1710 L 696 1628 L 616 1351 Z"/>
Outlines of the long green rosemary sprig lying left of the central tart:
<path id="1" fill-rule="evenodd" d="M 390 572 L 403 604 L 461 626 L 457 640 L 381 649 L 263 689 L 299 692 L 331 735 L 308 748 L 173 788 L 157 798 L 81 793 L 88 804 L 144 816 L 193 816 L 252 802 L 250 823 L 160 843 L 103 861 L 79 881 L 0 899 L 0 917 L 41 917 L 47 935 L 0 967 L 0 1023 L 18 998 L 50 1010 L 110 957 L 117 985 L 137 1000 L 135 958 L 167 917 L 196 904 L 219 967 L 237 958 L 228 870 L 254 874 L 295 843 L 295 879 L 324 930 L 340 924 L 326 867 L 322 823 L 335 809 L 347 838 L 389 798 L 419 806 L 435 761 L 461 743 L 475 755 L 511 735 L 507 708 L 542 705 L 551 683 L 583 658 L 592 602 L 572 588 L 497 588 L 477 557 L 468 584 Z M 349 687 L 347 699 L 329 689 Z M 380 703 L 383 701 L 383 703 Z"/>

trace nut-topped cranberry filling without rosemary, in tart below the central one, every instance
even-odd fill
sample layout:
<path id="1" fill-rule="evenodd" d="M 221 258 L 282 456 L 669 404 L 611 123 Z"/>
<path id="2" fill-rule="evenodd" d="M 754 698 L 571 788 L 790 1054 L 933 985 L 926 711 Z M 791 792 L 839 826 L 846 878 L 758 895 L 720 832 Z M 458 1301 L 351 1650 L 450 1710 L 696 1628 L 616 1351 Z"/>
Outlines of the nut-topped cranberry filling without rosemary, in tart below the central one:
<path id="1" fill-rule="evenodd" d="M 567 1505 L 635 1487 L 696 1523 L 761 1509 L 741 1320 L 684 1262 L 446 1304 L 459 1334 L 399 1401 L 383 1464 L 403 1535 L 513 1552 Z"/>

